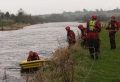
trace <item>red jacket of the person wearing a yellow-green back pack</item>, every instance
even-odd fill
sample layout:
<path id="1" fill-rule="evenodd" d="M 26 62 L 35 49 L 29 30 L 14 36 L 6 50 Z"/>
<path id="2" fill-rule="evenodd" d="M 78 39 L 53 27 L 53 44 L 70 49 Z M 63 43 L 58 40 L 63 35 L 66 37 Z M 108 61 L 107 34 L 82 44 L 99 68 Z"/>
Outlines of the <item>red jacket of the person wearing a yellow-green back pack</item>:
<path id="1" fill-rule="evenodd" d="M 101 23 L 99 21 L 95 21 L 95 25 L 93 26 L 93 30 L 91 31 L 90 21 L 87 22 L 87 38 L 88 39 L 99 38 L 99 33 L 101 32 Z"/>

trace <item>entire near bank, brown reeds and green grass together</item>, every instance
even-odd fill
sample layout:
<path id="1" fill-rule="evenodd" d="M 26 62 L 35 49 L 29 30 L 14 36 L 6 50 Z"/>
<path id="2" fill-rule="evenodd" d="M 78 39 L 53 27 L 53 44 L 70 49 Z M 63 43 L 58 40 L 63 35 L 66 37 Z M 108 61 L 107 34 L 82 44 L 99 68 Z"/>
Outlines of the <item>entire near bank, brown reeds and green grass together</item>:
<path id="1" fill-rule="evenodd" d="M 101 52 L 98 60 L 79 41 L 68 50 L 58 47 L 53 58 L 43 65 L 28 82 L 120 82 L 120 31 L 116 33 L 116 50 L 109 50 L 108 32 L 100 33 Z"/>

